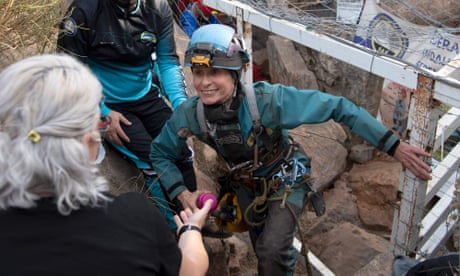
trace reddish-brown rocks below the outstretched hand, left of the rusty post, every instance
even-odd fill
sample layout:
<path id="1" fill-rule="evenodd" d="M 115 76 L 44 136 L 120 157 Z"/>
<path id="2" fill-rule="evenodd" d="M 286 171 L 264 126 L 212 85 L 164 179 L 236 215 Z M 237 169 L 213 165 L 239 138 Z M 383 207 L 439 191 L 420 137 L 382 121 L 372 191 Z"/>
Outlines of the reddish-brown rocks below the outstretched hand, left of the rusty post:
<path id="1" fill-rule="evenodd" d="M 399 173 L 398 162 L 377 155 L 366 164 L 353 165 L 324 191 L 324 216 L 304 211 L 300 232 L 310 250 L 336 275 L 359 275 L 359 271 L 390 275 L 394 212 L 390 202 L 396 198 Z"/>

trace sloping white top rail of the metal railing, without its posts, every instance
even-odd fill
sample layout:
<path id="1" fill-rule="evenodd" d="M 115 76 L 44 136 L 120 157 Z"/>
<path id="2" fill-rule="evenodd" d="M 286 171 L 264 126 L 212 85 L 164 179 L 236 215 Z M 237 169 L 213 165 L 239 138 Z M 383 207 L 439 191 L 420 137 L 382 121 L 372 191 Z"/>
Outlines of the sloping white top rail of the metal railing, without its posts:
<path id="1" fill-rule="evenodd" d="M 240 18 L 245 23 L 250 23 L 283 36 L 377 76 L 395 81 L 408 88 L 417 88 L 418 74 L 421 69 L 414 68 L 391 57 L 381 56 L 350 41 L 317 33 L 309 30 L 308 26 L 263 14 L 238 1 L 204 0 L 204 3 L 228 15 Z M 437 73 L 424 71 L 424 74 L 438 80 L 434 87 L 435 99 L 460 108 L 460 81 L 458 79 L 446 77 L 447 74 L 442 71 Z"/>

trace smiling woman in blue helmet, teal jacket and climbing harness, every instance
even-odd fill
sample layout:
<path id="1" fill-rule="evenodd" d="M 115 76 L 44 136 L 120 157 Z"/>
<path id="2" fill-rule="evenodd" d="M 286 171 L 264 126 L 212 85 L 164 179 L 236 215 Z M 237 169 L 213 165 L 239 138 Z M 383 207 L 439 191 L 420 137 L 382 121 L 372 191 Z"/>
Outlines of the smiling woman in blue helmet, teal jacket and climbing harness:
<path id="1" fill-rule="evenodd" d="M 346 98 L 263 81 L 243 86 L 240 77 L 248 62 L 233 28 L 211 24 L 196 30 L 185 65 L 192 69 L 198 95 L 166 122 L 151 144 L 150 159 L 169 197 L 193 209 L 203 191 L 186 188 L 175 162 L 187 137 L 213 147 L 229 167 L 228 175 L 219 178 L 216 223 L 225 230 L 249 231 L 259 275 L 292 275 L 292 241 L 306 194 L 314 195 L 317 215 L 324 206 L 308 178 L 310 158 L 289 137 L 289 129 L 333 119 L 423 180 L 431 178 L 431 168 L 420 157 L 430 154 L 400 141 Z"/>

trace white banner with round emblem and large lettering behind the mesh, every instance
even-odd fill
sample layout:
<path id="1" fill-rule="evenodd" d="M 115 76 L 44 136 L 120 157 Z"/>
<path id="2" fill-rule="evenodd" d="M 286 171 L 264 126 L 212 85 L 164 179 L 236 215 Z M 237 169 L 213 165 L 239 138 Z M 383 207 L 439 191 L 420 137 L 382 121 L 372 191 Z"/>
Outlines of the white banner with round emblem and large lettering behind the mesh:
<path id="1" fill-rule="evenodd" d="M 409 23 L 380 8 L 375 0 L 367 0 L 354 42 L 437 71 L 459 54 L 460 36 Z"/>

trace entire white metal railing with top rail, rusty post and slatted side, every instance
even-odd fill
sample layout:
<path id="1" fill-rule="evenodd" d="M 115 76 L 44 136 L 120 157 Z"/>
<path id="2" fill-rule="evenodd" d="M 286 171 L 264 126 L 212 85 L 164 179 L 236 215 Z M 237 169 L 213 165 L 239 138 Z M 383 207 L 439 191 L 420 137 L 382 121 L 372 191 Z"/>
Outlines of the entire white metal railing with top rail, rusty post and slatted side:
<path id="1" fill-rule="evenodd" d="M 204 4 L 231 15 L 237 19 L 238 32 L 248 31 L 251 25 L 283 36 L 306 47 L 354 65 L 377 76 L 392 80 L 416 90 L 411 99 L 409 121 L 411 124 L 410 143 L 419 148 L 435 151 L 447 137 L 460 126 L 460 61 L 454 60 L 449 67 L 438 72 L 414 68 L 399 60 L 370 51 L 349 41 L 329 37 L 309 30 L 307 26 L 275 18 L 261 13 L 244 3 L 232 0 L 204 0 Z M 243 24 L 244 23 L 244 24 Z M 251 45 L 251 38 L 245 37 Z M 250 50 L 251 47 L 248 48 Z M 252 81 L 248 70 L 246 81 Z M 454 107 L 439 120 L 439 110 L 434 108 L 433 99 Z M 438 120 L 440 124 L 438 125 Z M 424 258 L 433 254 L 452 234 L 455 218 L 449 212 L 455 199 L 453 194 L 456 172 L 460 163 L 460 147 L 455 147 L 433 171 L 433 180 L 420 181 L 410 172 L 401 173 L 400 208 L 395 211 L 392 233 L 392 252 Z M 454 181 L 452 181 L 454 179 Z M 438 198 L 438 202 L 427 210 L 428 203 Z M 296 246 L 297 245 L 297 246 Z M 299 241 L 294 241 L 299 247 Z M 421 254 L 421 255 L 420 255 Z M 311 252 L 315 270 L 322 275 L 334 275 Z"/>

